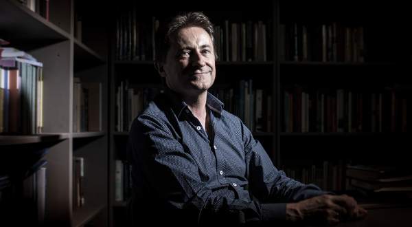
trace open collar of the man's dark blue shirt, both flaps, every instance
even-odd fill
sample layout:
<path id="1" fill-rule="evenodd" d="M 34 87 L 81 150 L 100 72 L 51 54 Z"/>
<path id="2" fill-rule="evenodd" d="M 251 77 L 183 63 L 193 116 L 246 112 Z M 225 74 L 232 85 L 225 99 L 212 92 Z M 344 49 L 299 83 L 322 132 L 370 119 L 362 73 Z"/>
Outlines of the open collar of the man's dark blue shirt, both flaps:
<path id="1" fill-rule="evenodd" d="M 168 98 L 170 98 L 172 109 L 176 116 L 179 118 L 183 110 L 188 109 L 186 102 L 183 101 L 179 94 L 177 94 L 175 91 L 172 91 L 171 89 L 166 89 L 165 94 L 166 96 L 168 96 Z M 219 116 L 222 115 L 222 110 L 224 107 L 223 102 L 209 92 L 207 92 L 206 105 L 207 107 L 209 107 L 209 109 L 211 109 L 211 111 L 216 112 Z"/>

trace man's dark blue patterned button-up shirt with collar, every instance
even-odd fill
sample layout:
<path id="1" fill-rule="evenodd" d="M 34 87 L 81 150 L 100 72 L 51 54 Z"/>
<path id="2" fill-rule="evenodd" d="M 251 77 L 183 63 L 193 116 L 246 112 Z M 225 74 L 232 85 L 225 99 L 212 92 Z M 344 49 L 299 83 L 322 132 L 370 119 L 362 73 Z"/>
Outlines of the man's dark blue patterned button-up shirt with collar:
<path id="1" fill-rule="evenodd" d="M 172 91 L 135 119 L 128 140 L 130 216 L 176 224 L 282 221 L 286 202 L 324 192 L 273 166 L 240 118 L 207 94 L 210 135 Z"/>

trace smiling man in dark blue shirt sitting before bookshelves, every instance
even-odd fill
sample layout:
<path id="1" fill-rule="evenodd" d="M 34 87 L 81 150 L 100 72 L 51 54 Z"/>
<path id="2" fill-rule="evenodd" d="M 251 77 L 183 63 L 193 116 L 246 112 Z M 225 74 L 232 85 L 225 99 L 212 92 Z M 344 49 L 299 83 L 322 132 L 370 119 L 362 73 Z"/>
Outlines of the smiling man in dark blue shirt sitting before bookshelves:
<path id="1" fill-rule="evenodd" d="M 277 170 L 251 131 L 207 92 L 216 54 L 204 14 L 177 16 L 160 34 L 156 67 L 167 91 L 133 122 L 128 141 L 133 222 L 337 224 L 365 215 L 352 197 Z"/>

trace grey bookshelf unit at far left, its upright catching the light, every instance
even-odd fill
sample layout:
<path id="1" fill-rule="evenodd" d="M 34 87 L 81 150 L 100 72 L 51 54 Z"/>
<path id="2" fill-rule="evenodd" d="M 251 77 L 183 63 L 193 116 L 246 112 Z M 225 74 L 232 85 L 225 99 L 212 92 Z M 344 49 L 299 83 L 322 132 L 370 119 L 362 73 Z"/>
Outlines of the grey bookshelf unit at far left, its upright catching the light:
<path id="1" fill-rule="evenodd" d="M 41 4 L 45 2 L 38 1 Z M 3 133 L 0 136 L 1 159 L 7 158 L 11 150 L 13 153 L 19 151 L 18 159 L 25 160 L 30 157 L 30 151 L 36 153 L 47 149 L 47 153 L 40 157 L 47 161 L 44 224 L 84 226 L 98 219 L 103 223 L 100 226 L 105 226 L 108 218 L 105 212 L 108 137 L 107 122 L 104 120 L 107 118 L 108 94 L 106 31 L 97 25 L 93 17 L 85 16 L 83 36 L 75 36 L 74 14 L 88 10 L 87 6 L 74 0 L 47 2 L 48 18 L 19 1 L 0 1 L 1 39 L 10 42 L 8 46 L 27 52 L 43 63 L 43 130 L 38 134 Z M 93 23 L 96 26 L 89 30 Z M 89 31 L 93 34 L 88 34 Z M 97 37 L 100 37 L 99 40 L 93 42 Z M 73 87 L 76 78 L 80 78 L 81 83 L 99 84 L 100 87 L 97 100 L 89 96 L 98 106 L 87 105 L 89 110 L 84 110 L 84 114 L 93 111 L 93 115 L 85 121 L 86 127 L 75 131 Z M 91 121 L 98 124 L 97 130 L 89 130 L 91 128 L 87 127 L 87 122 Z M 76 198 L 76 179 L 73 179 L 76 169 L 73 164 L 78 157 L 84 159 L 82 207 L 77 207 L 73 202 Z M 22 214 L 16 212 L 12 215 L 17 221 Z"/>

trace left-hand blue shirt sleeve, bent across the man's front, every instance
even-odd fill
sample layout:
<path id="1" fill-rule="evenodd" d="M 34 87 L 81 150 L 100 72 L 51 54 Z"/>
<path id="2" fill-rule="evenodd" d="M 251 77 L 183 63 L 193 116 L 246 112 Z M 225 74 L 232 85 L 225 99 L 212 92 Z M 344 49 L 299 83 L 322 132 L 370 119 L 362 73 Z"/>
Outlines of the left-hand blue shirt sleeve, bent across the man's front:
<path id="1" fill-rule="evenodd" d="M 144 184 L 165 202 L 159 208 L 175 211 L 175 218 L 194 216 L 197 223 L 260 221 L 257 202 L 211 191 L 192 155 L 179 140 L 167 122 L 147 114 L 139 116 L 130 131 L 128 155 L 133 177 L 145 178 Z"/>

